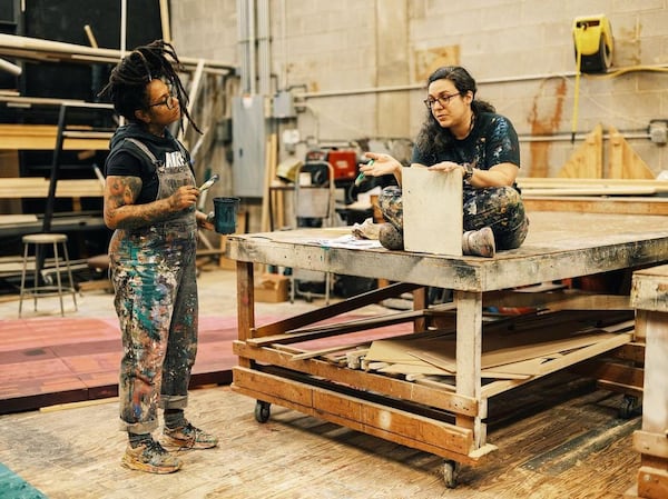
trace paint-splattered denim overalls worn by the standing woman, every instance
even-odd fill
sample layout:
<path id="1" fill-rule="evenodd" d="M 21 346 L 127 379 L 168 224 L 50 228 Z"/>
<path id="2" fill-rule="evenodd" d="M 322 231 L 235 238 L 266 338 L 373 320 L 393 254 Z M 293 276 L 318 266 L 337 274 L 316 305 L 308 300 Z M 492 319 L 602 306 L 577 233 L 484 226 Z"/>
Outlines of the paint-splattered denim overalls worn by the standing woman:
<path id="1" fill-rule="evenodd" d="M 157 199 L 195 184 L 181 151 L 158 163 Z M 187 405 L 197 353 L 195 208 L 135 230 L 117 230 L 109 256 L 124 356 L 119 400 L 124 430 L 147 433 L 158 426 L 158 405 Z"/>

